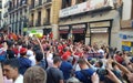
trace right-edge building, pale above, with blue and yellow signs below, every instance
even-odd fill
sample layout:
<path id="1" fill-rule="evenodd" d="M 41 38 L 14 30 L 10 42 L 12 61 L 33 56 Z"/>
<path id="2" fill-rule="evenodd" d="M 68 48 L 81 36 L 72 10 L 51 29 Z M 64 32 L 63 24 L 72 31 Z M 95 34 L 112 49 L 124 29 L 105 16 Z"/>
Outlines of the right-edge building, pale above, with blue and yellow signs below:
<path id="1" fill-rule="evenodd" d="M 120 25 L 121 48 L 133 53 L 133 0 L 123 0 L 123 15 Z"/>

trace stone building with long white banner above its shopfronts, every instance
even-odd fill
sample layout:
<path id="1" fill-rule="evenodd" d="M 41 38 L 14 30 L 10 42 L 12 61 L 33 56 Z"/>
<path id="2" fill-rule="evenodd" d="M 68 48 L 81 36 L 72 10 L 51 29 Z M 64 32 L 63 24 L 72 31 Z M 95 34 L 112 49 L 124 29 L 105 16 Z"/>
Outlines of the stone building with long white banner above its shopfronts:
<path id="1" fill-rule="evenodd" d="M 122 3 L 122 0 L 62 0 L 59 15 L 61 38 L 120 50 L 116 39 L 121 30 Z"/>

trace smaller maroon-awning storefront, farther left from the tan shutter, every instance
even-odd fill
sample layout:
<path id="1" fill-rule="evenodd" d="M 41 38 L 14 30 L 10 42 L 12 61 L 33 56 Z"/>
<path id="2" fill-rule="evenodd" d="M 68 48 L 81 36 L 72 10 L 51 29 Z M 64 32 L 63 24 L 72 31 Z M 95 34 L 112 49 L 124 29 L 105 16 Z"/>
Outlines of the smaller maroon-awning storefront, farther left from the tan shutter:
<path id="1" fill-rule="evenodd" d="M 68 39 L 68 34 L 70 33 L 69 25 L 60 25 L 59 27 L 59 35 L 61 39 Z"/>

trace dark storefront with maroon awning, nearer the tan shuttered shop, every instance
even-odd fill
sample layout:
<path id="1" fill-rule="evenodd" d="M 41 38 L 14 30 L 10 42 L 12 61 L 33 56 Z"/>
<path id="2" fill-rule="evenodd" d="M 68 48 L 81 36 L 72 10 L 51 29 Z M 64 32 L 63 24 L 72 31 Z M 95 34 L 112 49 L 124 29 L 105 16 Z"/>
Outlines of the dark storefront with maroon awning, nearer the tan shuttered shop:
<path id="1" fill-rule="evenodd" d="M 86 23 L 81 24 L 72 24 L 72 34 L 73 34 L 73 41 L 80 42 L 82 41 L 84 43 L 85 41 L 85 32 L 86 32 Z"/>

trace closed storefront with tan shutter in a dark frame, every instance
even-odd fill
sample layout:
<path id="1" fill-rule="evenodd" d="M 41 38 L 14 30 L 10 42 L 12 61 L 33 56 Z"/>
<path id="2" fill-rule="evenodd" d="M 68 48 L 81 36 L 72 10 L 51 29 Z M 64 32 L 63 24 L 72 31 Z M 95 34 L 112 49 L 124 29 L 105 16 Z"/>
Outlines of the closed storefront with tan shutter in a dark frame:
<path id="1" fill-rule="evenodd" d="M 112 20 L 90 22 L 90 43 L 110 45 Z"/>

